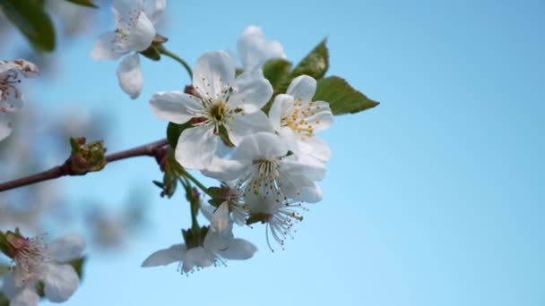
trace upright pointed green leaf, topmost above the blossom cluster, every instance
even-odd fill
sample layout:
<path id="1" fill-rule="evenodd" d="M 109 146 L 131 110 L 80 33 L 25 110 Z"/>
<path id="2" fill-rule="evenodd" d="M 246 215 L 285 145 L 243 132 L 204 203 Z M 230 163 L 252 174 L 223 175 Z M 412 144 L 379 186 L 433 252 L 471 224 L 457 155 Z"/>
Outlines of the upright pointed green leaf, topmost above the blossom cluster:
<path id="1" fill-rule="evenodd" d="M 307 74 L 316 80 L 322 79 L 329 68 L 329 51 L 325 46 L 327 38 L 318 44 L 290 73 L 291 80 Z M 290 80 L 290 81 L 291 81 Z"/>

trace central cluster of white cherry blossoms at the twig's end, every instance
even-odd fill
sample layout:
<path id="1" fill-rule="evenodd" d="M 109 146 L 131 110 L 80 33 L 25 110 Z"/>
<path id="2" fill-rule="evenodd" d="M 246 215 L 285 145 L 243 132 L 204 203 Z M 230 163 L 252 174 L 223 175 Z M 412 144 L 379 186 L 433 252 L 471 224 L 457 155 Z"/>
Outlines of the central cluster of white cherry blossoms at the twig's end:
<path id="1" fill-rule="evenodd" d="M 255 26 L 239 38 L 238 55 L 244 67 L 239 75 L 228 52 L 208 52 L 196 61 L 191 94 L 160 91 L 150 100 L 158 118 L 190 123 L 177 140 L 177 162 L 219 180 L 221 187 L 209 189 L 215 207 L 201 205 L 211 222 L 202 241 L 156 251 L 143 267 L 179 262 L 188 273 L 221 259 L 249 259 L 257 249 L 234 238 L 234 223 L 263 223 L 273 250 L 271 241 L 283 246 L 292 236 L 304 204 L 322 200 L 316 182 L 324 179 L 331 151 L 316 132 L 331 126 L 333 114 L 327 102 L 313 100 L 316 80 L 298 76 L 273 98 L 261 68 L 286 55 Z"/>

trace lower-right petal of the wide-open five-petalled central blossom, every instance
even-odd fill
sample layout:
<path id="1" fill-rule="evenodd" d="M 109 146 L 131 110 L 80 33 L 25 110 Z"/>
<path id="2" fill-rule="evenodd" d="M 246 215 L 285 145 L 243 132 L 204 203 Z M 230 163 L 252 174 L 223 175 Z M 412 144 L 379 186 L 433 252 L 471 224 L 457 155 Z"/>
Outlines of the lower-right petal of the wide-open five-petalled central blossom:
<path id="1" fill-rule="evenodd" d="M 269 117 L 261 110 L 251 114 L 246 114 L 245 112 L 235 113 L 231 121 L 226 125 L 229 132 L 229 140 L 235 146 L 238 146 L 240 141 L 248 135 L 257 132 L 274 132 Z"/>

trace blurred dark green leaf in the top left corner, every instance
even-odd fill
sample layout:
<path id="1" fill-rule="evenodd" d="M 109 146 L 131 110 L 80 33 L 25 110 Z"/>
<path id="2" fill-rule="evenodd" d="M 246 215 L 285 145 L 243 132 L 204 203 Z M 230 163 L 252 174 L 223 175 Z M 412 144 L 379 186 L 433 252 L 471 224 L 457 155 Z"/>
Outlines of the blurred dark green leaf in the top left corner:
<path id="1" fill-rule="evenodd" d="M 45 52 L 55 49 L 55 29 L 43 5 L 33 0 L 0 0 L 0 7 L 32 47 Z"/>

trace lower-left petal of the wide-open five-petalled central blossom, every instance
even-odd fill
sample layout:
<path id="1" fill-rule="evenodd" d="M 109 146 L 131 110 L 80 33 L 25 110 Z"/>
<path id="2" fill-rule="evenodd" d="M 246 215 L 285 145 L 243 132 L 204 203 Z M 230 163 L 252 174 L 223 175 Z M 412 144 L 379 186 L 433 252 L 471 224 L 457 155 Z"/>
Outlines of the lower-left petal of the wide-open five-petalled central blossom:
<path id="1" fill-rule="evenodd" d="M 204 169 L 216 152 L 219 137 L 211 124 L 201 124 L 184 130 L 177 140 L 175 157 L 189 169 Z"/>

